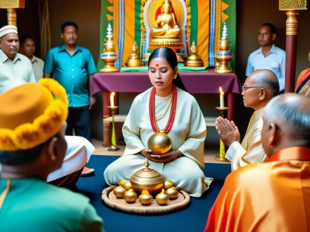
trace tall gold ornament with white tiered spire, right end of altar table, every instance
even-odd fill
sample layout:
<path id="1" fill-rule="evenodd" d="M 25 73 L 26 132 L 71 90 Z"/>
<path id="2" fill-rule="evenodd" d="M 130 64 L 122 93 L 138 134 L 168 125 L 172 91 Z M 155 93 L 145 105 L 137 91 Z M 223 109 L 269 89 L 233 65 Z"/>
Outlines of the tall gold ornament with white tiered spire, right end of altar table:
<path id="1" fill-rule="evenodd" d="M 231 73 L 232 69 L 229 67 L 229 62 L 233 58 L 233 54 L 229 51 L 230 42 L 227 41 L 227 27 L 224 22 L 223 35 L 222 39 L 219 41 L 219 52 L 215 54 L 216 64 L 215 70 L 216 73 Z"/>

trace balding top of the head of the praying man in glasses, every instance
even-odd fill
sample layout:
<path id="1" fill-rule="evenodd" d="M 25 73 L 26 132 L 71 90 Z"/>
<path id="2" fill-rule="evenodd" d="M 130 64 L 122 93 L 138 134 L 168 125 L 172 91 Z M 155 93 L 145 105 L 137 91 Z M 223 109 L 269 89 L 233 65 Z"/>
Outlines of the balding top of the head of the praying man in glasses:
<path id="1" fill-rule="evenodd" d="M 279 94 L 280 84 L 277 75 L 273 71 L 268 69 L 259 69 L 252 72 L 249 77 L 253 78 L 258 85 L 270 92 L 273 97 Z"/>

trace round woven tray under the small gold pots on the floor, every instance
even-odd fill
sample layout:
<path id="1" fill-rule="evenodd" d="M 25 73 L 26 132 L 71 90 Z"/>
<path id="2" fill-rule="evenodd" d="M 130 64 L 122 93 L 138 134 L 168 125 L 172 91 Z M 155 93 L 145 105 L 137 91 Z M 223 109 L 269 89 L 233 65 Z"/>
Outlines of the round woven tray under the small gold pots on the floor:
<path id="1" fill-rule="evenodd" d="M 167 213 L 185 207 L 190 201 L 189 195 L 186 192 L 180 190 L 178 198 L 169 200 L 167 205 L 157 204 L 155 196 L 153 196 L 153 202 L 149 205 L 142 205 L 139 202 L 139 198 L 134 203 L 127 203 L 124 199 L 117 198 L 114 195 L 113 189 L 115 187 L 117 186 L 115 185 L 105 188 L 102 191 L 101 198 L 104 203 L 111 208 L 122 210 L 128 213 Z"/>

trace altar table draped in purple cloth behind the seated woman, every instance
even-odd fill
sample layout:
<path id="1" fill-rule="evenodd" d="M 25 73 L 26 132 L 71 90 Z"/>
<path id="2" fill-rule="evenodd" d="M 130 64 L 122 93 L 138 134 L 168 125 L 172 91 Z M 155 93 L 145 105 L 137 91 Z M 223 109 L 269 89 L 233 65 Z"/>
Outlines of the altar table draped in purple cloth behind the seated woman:
<path id="1" fill-rule="evenodd" d="M 207 72 L 179 72 L 180 77 L 189 93 L 218 93 L 221 86 L 223 91 L 227 93 L 227 118 L 233 119 L 234 115 L 234 94 L 241 94 L 241 83 L 234 73 L 220 74 L 215 73 L 214 69 L 209 69 Z M 111 73 L 96 73 L 92 86 L 92 94 L 103 92 L 103 117 L 104 120 L 104 147 L 111 144 L 110 136 L 105 136 L 105 133 L 110 135 L 109 127 L 111 117 L 109 109 L 110 92 L 144 92 L 151 88 L 152 84 L 148 77 L 148 72 L 111 72 Z M 118 100 L 115 99 L 115 105 Z M 126 115 L 120 115 L 115 118 L 116 122 L 123 122 Z M 206 117 L 207 118 L 207 117 Z M 213 118 L 212 118 L 213 120 Z M 208 122 L 206 120 L 206 125 Z M 210 125 L 211 126 L 211 125 Z M 215 126 L 215 125 L 213 125 Z"/>

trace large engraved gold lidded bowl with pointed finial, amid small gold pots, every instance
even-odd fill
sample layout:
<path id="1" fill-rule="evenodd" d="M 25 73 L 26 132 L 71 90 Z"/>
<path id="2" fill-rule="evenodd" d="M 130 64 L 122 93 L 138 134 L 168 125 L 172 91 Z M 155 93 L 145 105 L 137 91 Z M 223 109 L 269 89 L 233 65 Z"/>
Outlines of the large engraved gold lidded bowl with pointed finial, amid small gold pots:
<path id="1" fill-rule="evenodd" d="M 162 189 L 165 185 L 165 178 L 154 169 L 148 167 L 148 159 L 145 158 L 145 168 L 136 171 L 129 178 L 131 186 L 134 190 L 142 192 L 156 192 Z"/>

